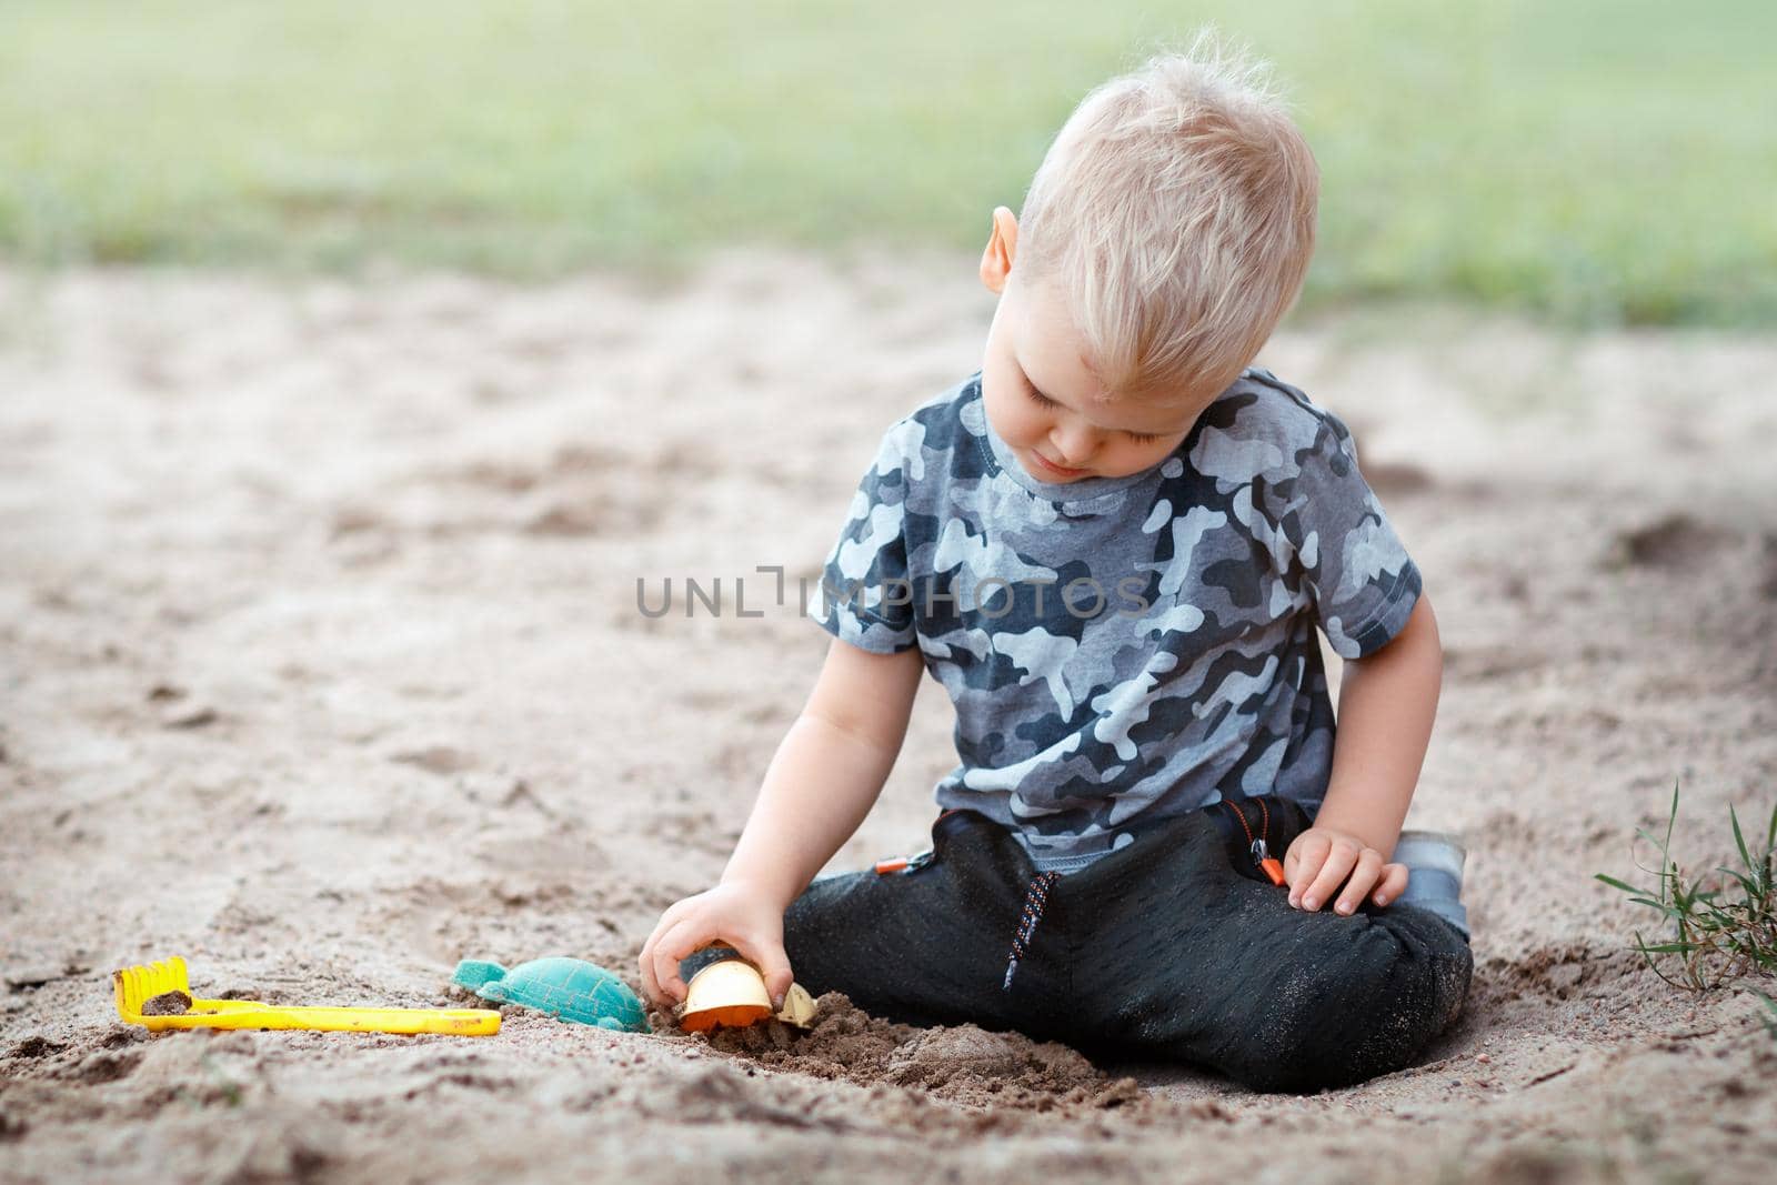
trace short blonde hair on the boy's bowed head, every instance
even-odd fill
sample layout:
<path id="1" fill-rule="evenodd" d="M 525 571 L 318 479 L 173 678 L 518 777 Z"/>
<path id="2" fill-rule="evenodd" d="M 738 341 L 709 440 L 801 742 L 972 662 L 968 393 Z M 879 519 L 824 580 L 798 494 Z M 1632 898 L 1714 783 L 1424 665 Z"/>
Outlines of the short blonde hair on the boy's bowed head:
<path id="1" fill-rule="evenodd" d="M 1295 300 L 1313 153 L 1214 30 L 1095 87 L 1031 179 L 1016 266 L 1054 277 L 1112 393 L 1223 391 Z"/>

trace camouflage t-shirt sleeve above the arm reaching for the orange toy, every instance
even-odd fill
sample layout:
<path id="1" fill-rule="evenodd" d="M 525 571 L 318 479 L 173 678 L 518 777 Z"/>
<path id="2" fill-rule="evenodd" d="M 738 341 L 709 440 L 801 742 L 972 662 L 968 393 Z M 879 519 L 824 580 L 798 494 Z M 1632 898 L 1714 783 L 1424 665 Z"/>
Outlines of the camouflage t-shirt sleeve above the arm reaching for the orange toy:
<path id="1" fill-rule="evenodd" d="M 873 654 L 919 645 L 906 567 L 906 460 L 890 430 L 858 481 L 809 597 L 809 616 L 842 641 Z"/>

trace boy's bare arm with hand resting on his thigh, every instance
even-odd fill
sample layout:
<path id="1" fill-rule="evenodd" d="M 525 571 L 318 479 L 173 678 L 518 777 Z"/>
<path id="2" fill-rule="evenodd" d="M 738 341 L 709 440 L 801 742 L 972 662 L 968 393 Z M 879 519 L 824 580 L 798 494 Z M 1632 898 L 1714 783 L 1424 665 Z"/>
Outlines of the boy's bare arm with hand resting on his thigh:
<path id="1" fill-rule="evenodd" d="M 1290 904 L 1319 910 L 1345 885 L 1335 908 L 1351 913 L 1372 888 L 1379 906 L 1406 888 L 1406 869 L 1386 860 L 1413 801 L 1441 682 L 1438 618 L 1422 593 L 1388 645 L 1345 664 L 1327 794 L 1283 860 Z"/>

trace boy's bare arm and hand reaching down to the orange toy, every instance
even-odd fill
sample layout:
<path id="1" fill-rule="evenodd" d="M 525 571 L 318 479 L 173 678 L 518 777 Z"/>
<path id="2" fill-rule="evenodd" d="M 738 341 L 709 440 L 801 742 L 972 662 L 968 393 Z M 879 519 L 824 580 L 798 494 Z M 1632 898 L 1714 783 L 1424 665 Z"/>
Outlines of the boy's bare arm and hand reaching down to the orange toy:
<path id="1" fill-rule="evenodd" d="M 919 648 L 871 654 L 837 638 L 766 767 L 721 881 L 670 906 L 641 947 L 641 986 L 684 998 L 679 959 L 721 940 L 766 977 L 773 1000 L 791 984 L 784 910 L 858 830 L 894 767 L 924 659 Z"/>

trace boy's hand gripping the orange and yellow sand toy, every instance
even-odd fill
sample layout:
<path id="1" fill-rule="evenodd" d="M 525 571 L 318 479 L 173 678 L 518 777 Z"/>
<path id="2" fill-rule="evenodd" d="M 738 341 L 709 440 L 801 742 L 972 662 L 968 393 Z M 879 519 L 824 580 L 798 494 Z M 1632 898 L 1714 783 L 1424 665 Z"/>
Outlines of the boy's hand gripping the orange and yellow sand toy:
<path id="1" fill-rule="evenodd" d="M 784 954 L 784 910 L 748 885 L 723 883 L 673 903 L 641 943 L 641 991 L 659 1007 L 684 1000 L 679 959 L 725 942 L 766 977 L 773 1007 L 782 1007 L 791 968 Z"/>

